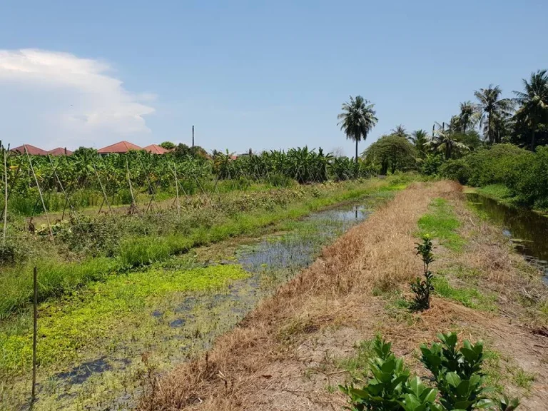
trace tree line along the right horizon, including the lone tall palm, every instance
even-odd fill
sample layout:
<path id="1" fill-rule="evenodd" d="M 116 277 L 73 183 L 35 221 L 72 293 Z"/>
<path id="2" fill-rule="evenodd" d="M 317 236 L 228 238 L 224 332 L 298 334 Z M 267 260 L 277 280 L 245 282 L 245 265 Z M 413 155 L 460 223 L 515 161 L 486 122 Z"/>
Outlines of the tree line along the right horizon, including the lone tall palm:
<path id="1" fill-rule="evenodd" d="M 474 101 L 460 103 L 450 121 L 435 123 L 432 132 L 408 133 L 399 125 L 362 152 L 362 159 L 379 173 L 416 169 L 436 173 L 445 161 L 480 148 L 509 143 L 529 151 L 548 144 L 548 73 L 539 70 L 522 79 L 522 91 L 503 97 L 499 86 L 474 91 Z M 339 125 L 357 145 L 377 123 L 375 105 L 362 96 L 342 104 Z"/>

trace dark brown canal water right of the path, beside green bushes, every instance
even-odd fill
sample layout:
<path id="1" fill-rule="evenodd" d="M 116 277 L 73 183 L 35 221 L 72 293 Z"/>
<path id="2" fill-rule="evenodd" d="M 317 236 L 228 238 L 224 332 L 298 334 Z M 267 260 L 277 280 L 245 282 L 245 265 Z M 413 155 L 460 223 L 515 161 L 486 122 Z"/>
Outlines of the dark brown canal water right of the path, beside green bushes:
<path id="1" fill-rule="evenodd" d="M 467 197 L 489 219 L 502 225 L 502 233 L 512 241 L 514 248 L 544 270 L 545 280 L 548 280 L 548 217 L 531 210 L 512 208 L 476 193 Z"/>

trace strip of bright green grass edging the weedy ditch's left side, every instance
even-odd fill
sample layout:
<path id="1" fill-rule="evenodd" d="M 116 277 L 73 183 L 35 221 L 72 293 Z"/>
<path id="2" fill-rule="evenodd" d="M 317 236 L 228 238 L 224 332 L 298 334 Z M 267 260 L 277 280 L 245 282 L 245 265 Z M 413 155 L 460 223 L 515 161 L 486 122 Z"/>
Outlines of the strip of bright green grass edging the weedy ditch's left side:
<path id="1" fill-rule="evenodd" d="M 362 183 L 313 187 L 307 192 L 300 193 L 293 203 L 275 206 L 268 202 L 255 205 L 253 198 L 242 200 L 242 196 L 235 196 L 233 201 L 237 206 L 249 203 L 246 207 L 252 209 L 228 214 L 217 213 L 210 218 L 205 218 L 204 215 L 204 218 L 191 220 L 188 223 L 185 220 L 181 230 L 176 232 L 151 235 L 139 233 L 126 236 L 118 245 L 113 258 L 86 258 L 78 263 L 67 263 L 51 253 L 41 255 L 38 260 L 4 269 L 0 274 L 2 290 L 0 320 L 29 305 L 32 290 L 31 273 L 34 265 L 37 265 L 39 269 L 39 300 L 44 301 L 70 293 L 90 281 L 102 280 L 112 273 L 125 272 L 143 265 L 165 261 L 173 255 L 186 253 L 200 245 L 217 243 L 238 235 L 252 235 L 283 220 L 302 218 L 330 205 L 355 201 L 373 191 L 378 191 L 379 187 L 387 187 L 390 190 L 404 187 L 391 186 L 390 179 L 379 183 L 375 181 L 376 185 L 372 182 L 370 180 Z M 253 207 L 258 208 L 253 209 Z M 173 218 L 177 216 L 174 215 Z M 152 228 L 153 223 L 154 220 L 150 223 Z M 131 224 L 132 230 L 138 230 L 138 220 L 132 220 Z"/>

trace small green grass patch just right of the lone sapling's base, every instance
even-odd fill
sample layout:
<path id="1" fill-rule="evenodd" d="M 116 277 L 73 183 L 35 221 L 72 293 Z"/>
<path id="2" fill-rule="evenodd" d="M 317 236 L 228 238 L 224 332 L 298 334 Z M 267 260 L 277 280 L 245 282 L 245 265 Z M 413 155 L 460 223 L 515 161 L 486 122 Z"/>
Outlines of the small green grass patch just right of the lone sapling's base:
<path id="1" fill-rule="evenodd" d="M 486 293 L 475 287 L 457 288 L 450 285 L 447 278 L 436 275 L 432 281 L 434 293 L 443 298 L 455 300 L 465 307 L 474 308 L 480 311 L 497 310 L 497 296 L 492 293 Z"/>

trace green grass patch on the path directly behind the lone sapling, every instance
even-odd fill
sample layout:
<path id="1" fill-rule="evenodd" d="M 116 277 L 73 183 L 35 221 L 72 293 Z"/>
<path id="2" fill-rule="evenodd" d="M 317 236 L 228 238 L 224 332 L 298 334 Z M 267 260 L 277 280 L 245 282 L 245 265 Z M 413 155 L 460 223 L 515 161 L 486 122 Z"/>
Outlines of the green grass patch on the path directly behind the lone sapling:
<path id="1" fill-rule="evenodd" d="M 453 251 L 462 250 L 465 240 L 457 233 L 460 221 L 452 206 L 443 198 L 435 198 L 430 210 L 419 219 L 420 236 L 429 234 L 440 240 L 440 244 Z"/>

